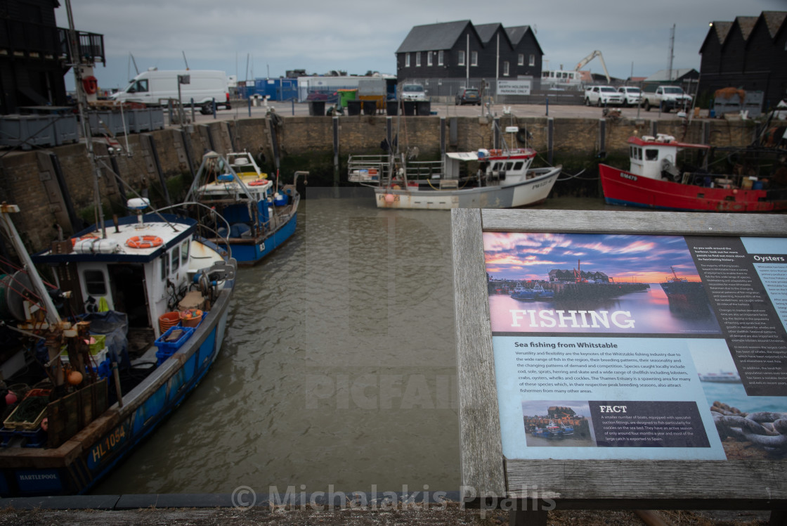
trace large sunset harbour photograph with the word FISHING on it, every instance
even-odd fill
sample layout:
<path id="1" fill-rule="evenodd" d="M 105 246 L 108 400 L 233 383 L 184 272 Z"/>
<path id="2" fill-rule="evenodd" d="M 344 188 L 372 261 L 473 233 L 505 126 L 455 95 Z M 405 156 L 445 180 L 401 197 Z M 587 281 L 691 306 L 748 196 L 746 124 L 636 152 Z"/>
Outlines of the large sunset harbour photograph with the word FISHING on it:
<path id="1" fill-rule="evenodd" d="M 682 236 L 484 232 L 496 334 L 719 334 Z"/>

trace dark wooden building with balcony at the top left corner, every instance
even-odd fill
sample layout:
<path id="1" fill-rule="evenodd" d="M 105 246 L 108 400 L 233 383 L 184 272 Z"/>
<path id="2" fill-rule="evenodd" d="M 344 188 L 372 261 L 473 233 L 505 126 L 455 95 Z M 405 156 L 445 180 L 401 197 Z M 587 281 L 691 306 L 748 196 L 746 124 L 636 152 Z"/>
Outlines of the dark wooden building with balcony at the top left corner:
<path id="1" fill-rule="evenodd" d="M 0 114 L 24 106 L 63 106 L 71 69 L 68 30 L 57 28 L 57 0 L 0 0 Z M 79 56 L 104 61 L 104 39 L 78 33 Z"/>

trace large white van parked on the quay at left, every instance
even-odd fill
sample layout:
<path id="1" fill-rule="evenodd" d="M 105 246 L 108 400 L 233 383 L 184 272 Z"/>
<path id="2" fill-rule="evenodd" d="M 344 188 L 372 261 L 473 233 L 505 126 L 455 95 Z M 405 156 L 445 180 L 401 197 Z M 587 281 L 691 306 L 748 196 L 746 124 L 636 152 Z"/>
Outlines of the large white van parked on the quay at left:
<path id="1" fill-rule="evenodd" d="M 181 69 L 158 71 L 149 69 L 139 73 L 131 80 L 124 90 L 112 95 L 120 102 L 143 102 L 150 106 L 165 106 L 168 99 L 178 98 L 178 77 L 188 83 L 180 84 L 180 101 L 183 106 L 201 108 L 202 113 L 212 113 L 212 101 L 216 107 L 223 106 L 230 109 L 230 90 L 227 85 L 227 75 L 223 71 L 210 71 L 205 69 Z"/>

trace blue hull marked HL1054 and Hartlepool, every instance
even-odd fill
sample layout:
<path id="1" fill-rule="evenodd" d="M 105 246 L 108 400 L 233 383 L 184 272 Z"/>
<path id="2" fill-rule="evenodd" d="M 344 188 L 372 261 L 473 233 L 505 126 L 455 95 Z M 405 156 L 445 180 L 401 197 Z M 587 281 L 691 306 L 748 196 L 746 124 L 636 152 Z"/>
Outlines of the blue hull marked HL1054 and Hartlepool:
<path id="1" fill-rule="evenodd" d="M 61 446 L 0 450 L 0 495 L 82 494 L 94 487 L 183 402 L 219 353 L 234 280 L 187 343 L 117 404 Z M 24 454 L 20 454 L 20 449 Z"/>

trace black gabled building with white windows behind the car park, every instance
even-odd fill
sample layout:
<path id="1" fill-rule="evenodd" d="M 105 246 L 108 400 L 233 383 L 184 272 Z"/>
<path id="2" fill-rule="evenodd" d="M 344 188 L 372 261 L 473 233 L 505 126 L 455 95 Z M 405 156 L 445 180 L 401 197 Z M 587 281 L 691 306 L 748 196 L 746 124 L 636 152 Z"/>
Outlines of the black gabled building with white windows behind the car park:
<path id="1" fill-rule="evenodd" d="M 396 51 L 397 77 L 541 78 L 544 53 L 529 26 L 470 20 L 413 27 Z"/>

